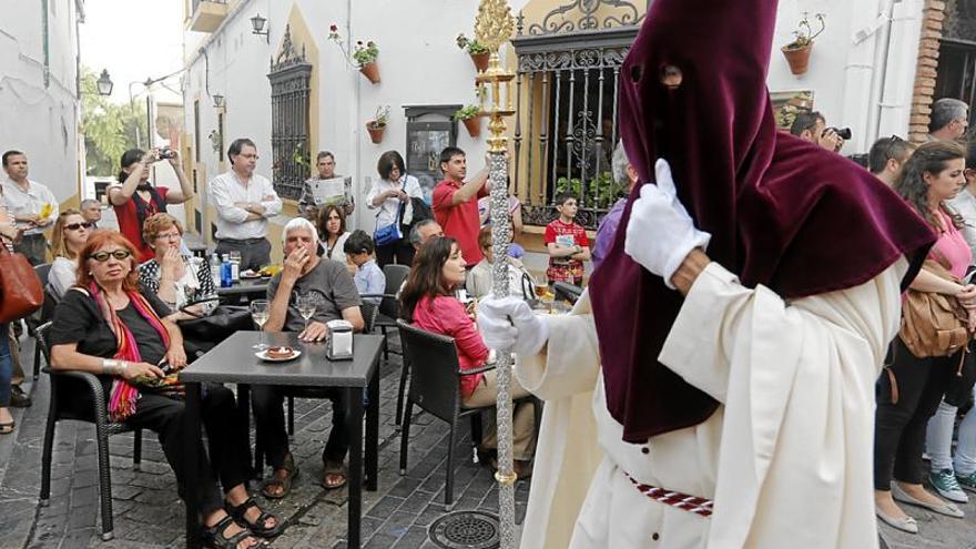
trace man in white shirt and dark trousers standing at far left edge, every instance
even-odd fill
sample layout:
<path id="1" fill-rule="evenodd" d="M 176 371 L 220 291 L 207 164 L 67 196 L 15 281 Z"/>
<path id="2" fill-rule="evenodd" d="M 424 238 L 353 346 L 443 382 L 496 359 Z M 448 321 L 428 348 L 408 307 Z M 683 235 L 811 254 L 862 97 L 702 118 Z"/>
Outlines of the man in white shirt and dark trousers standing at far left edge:
<path id="1" fill-rule="evenodd" d="M 3 203 L 13 215 L 17 227 L 23 230 L 23 238 L 13 248 L 40 265 L 47 261 L 48 240 L 44 228 L 58 218 L 58 201 L 51 191 L 27 179 L 27 155 L 20 151 L 3 153 Z"/>

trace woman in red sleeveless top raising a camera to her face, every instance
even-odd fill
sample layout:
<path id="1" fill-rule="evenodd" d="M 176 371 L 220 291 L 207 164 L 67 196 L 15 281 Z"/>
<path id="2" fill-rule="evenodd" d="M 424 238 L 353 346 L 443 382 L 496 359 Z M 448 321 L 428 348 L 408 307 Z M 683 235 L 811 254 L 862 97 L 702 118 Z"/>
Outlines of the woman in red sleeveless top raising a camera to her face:
<path id="1" fill-rule="evenodd" d="M 150 182 L 150 169 L 156 162 L 166 160 L 176 172 L 180 189 L 156 186 Z M 139 263 L 151 260 L 155 254 L 142 236 L 142 224 L 154 214 L 164 213 L 166 204 L 182 204 L 193 197 L 193 185 L 183 173 L 180 156 L 169 148 L 130 149 L 122 154 L 119 184 L 109 186 L 109 202 L 115 209 L 119 232 L 139 247 Z"/>

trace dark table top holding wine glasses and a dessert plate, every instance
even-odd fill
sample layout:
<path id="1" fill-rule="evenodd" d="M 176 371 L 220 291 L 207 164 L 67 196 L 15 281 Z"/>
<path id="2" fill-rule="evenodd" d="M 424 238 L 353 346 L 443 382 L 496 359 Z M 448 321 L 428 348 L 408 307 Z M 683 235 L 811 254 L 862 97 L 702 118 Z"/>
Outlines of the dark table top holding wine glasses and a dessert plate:
<path id="1" fill-rule="evenodd" d="M 378 367 L 383 336 L 356 334 L 352 360 L 329 360 L 324 343 L 298 342 L 296 332 L 268 332 L 264 343 L 287 345 L 302 356 L 282 363 L 265 362 L 252 346 L 260 332 L 237 332 L 180 373 L 184 383 L 240 383 L 247 385 L 292 385 L 306 387 L 366 387 Z"/>

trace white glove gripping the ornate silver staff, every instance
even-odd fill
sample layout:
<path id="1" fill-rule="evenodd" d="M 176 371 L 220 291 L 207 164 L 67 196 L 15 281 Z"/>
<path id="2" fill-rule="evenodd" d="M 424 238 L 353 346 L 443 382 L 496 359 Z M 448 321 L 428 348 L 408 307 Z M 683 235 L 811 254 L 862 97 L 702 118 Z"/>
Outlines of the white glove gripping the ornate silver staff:
<path id="1" fill-rule="evenodd" d="M 485 296 L 478 302 L 478 328 L 490 348 L 518 355 L 535 355 L 549 340 L 549 326 L 516 297 Z"/>

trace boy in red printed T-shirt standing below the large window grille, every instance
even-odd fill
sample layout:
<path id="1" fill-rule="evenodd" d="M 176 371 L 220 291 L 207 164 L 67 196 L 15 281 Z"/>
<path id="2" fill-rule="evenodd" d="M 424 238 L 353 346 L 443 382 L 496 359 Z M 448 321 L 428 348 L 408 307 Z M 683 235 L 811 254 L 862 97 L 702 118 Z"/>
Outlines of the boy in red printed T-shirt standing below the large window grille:
<path id="1" fill-rule="evenodd" d="M 569 193 L 556 196 L 559 217 L 546 225 L 546 247 L 549 250 L 549 284 L 568 282 L 582 286 L 583 262 L 590 261 L 590 240 L 587 231 L 573 222 L 577 212 L 576 197 Z"/>

